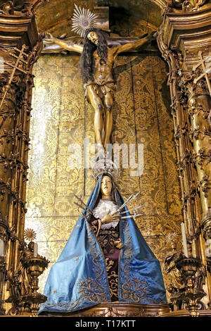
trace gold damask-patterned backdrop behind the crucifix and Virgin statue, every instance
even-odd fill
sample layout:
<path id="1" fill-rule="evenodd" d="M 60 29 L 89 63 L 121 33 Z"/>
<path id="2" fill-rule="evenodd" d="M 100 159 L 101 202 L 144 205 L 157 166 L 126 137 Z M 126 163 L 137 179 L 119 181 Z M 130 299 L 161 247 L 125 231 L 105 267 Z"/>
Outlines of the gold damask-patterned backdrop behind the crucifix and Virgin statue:
<path id="1" fill-rule="evenodd" d="M 39 292 L 79 216 L 73 194 L 87 201 L 94 187 L 91 170 L 68 165 L 70 144 L 83 147 L 85 137 L 94 144 L 93 111 L 84 101 L 78 62 L 75 54 L 45 54 L 34 66 L 25 228 L 37 232 L 39 254 L 51 261 L 39 277 Z M 167 68 L 153 52 L 119 56 L 115 79 L 112 142 L 143 144 L 144 158 L 141 177 L 122 169 L 118 185 L 125 197 L 141 190 L 143 216 L 136 223 L 162 264 L 166 236 L 180 234 L 182 220 Z"/>

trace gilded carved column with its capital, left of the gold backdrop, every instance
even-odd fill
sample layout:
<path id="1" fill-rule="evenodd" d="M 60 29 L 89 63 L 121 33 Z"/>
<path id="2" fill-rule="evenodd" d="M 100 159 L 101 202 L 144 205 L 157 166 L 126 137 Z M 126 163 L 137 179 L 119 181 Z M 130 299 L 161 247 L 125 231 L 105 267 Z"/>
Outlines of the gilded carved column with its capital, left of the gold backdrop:
<path id="1" fill-rule="evenodd" d="M 7 1 L 0 6 L 0 239 L 11 277 L 23 242 L 32 67 L 42 48 L 34 10 L 41 2 L 19 1 L 15 8 Z M 9 289 L 8 283 L 4 300 Z"/>

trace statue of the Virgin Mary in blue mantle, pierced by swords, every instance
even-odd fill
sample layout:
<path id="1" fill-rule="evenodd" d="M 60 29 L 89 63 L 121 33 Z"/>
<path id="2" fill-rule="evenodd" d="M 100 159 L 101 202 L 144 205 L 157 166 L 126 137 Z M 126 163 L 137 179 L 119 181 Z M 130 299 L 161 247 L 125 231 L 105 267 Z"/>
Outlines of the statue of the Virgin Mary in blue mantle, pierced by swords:
<path id="1" fill-rule="evenodd" d="M 44 288 L 39 314 L 102 303 L 166 304 L 160 263 L 143 239 L 112 175 L 98 178 Z"/>

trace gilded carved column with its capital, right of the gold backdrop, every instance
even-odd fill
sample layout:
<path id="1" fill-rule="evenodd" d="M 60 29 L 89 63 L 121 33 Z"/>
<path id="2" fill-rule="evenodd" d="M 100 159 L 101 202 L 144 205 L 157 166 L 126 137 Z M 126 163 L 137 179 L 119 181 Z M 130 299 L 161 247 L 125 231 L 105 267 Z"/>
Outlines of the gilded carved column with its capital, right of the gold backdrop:
<path id="1" fill-rule="evenodd" d="M 206 1 L 200 5 L 198 1 L 172 1 L 158 32 L 158 46 L 170 67 L 168 84 L 189 254 L 200 258 L 205 267 L 209 264 L 205 240 L 211 235 L 211 89 L 204 73 L 204 60 L 211 54 L 210 20 L 211 4 Z M 210 286 L 210 273 L 205 270 L 206 304 L 211 301 Z"/>

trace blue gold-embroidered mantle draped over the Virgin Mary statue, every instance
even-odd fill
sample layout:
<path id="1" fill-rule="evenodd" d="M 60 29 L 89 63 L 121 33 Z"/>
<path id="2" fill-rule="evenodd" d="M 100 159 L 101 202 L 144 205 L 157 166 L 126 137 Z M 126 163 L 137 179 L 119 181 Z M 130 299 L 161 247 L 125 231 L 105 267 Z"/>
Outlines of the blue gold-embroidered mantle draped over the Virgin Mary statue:
<path id="1" fill-rule="evenodd" d="M 101 187 L 101 177 L 94 187 L 87 206 L 94 209 Z M 123 203 L 115 191 L 118 206 Z M 127 207 L 124 207 L 127 211 Z M 85 213 L 85 212 L 84 212 Z M 71 312 L 97 304 L 111 302 L 106 262 L 89 222 L 79 217 L 65 248 L 49 273 L 40 305 L 44 311 Z M 129 216 L 129 213 L 126 214 Z M 133 304 L 165 304 L 165 287 L 160 263 L 146 244 L 132 218 L 120 221 L 119 301 Z"/>

